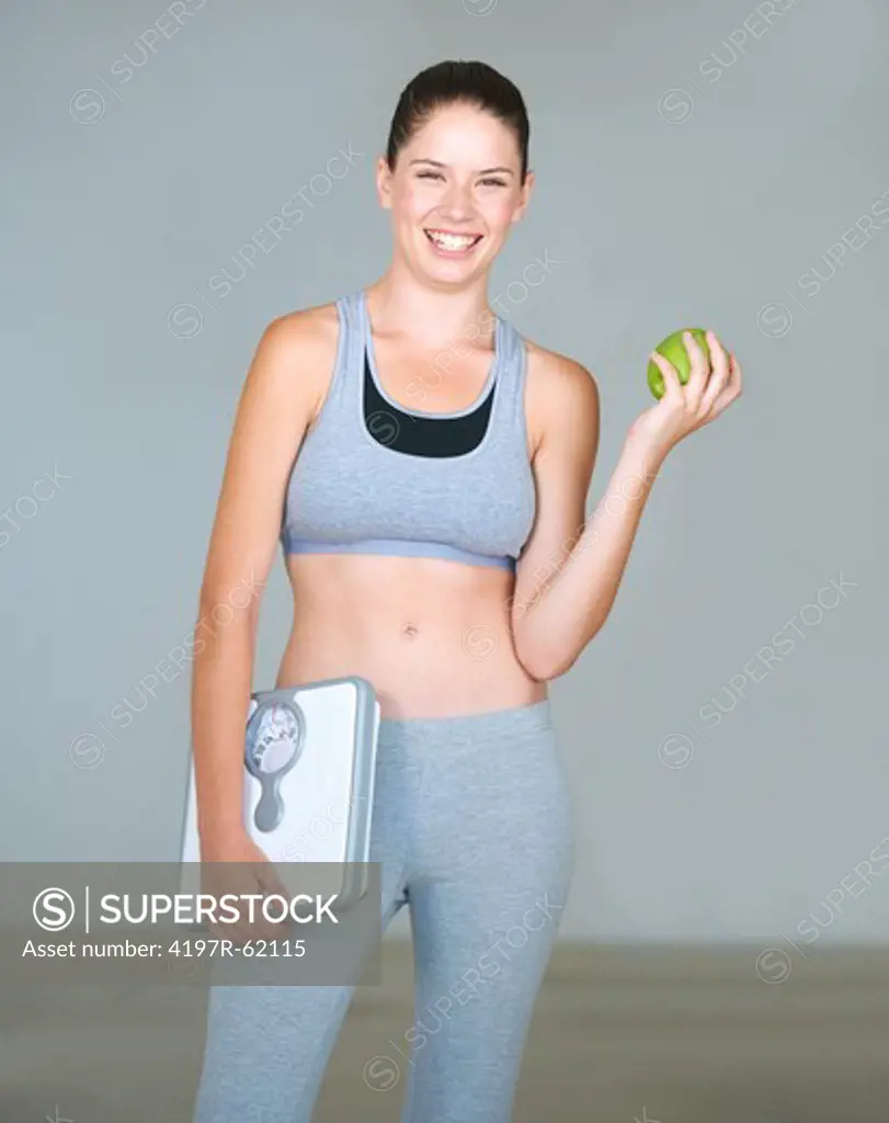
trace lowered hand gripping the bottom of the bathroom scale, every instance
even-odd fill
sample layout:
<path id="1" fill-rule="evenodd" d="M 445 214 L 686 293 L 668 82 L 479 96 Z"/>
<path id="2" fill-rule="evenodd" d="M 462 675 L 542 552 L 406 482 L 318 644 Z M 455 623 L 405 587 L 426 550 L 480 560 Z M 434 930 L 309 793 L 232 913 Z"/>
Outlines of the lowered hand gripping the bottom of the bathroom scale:
<path id="1" fill-rule="evenodd" d="M 227 895 L 249 897 L 259 894 L 264 897 L 279 895 L 285 901 L 291 898 L 274 865 L 246 830 L 201 838 L 201 892 L 212 895 L 219 917 L 230 917 L 232 911 L 238 910 L 237 921 L 218 917 L 216 923 L 209 924 L 216 935 L 238 943 L 257 939 L 279 940 L 286 935 L 286 922 L 275 923 L 263 916 L 260 901 L 232 901 L 228 903 L 231 907 L 219 907 L 220 900 Z M 281 909 L 276 907 L 274 915 L 279 912 Z"/>

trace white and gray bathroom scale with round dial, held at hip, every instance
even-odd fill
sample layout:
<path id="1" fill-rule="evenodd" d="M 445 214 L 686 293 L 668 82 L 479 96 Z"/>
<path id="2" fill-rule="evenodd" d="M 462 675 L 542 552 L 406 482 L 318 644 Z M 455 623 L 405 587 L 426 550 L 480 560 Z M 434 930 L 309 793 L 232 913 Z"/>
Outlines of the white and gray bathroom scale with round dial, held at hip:
<path id="1" fill-rule="evenodd" d="M 365 678 L 329 678 L 250 695 L 244 751 L 244 823 L 287 889 L 323 862 L 324 885 L 348 909 L 367 889 L 379 702 Z M 200 892 L 194 758 L 182 832 L 181 892 Z M 293 884 L 291 884 L 293 883 Z"/>

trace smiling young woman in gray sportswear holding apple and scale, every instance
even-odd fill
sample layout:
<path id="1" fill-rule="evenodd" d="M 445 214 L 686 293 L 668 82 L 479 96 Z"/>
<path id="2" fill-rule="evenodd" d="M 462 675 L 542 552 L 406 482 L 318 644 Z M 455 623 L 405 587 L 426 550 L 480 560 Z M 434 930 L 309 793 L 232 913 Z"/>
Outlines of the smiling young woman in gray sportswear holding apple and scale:
<path id="1" fill-rule="evenodd" d="M 666 393 L 585 522 L 595 380 L 488 304 L 533 186 L 528 138 L 519 90 L 482 63 L 405 88 L 376 175 L 392 261 L 266 329 L 201 590 L 212 610 L 262 586 L 281 538 L 295 610 L 276 685 L 360 675 L 379 699 L 372 860 L 416 965 L 405 1123 L 511 1117 L 574 865 L 547 683 L 605 622 L 663 458 L 741 390 L 712 332 L 712 364 L 687 344 L 685 385 L 657 356 Z M 258 608 L 194 666 L 208 861 L 263 861 L 240 804 Z M 351 993 L 214 988 L 198 1123 L 306 1123 Z"/>

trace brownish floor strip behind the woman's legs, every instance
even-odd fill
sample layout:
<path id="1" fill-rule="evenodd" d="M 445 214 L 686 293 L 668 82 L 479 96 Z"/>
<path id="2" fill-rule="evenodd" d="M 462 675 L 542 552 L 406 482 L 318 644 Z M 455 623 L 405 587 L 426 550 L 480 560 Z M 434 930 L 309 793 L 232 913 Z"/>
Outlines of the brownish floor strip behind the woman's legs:
<path id="1" fill-rule="evenodd" d="M 514 1123 L 889 1120 L 889 951 L 807 956 L 560 943 Z M 398 1123 L 411 973 L 410 944 L 386 941 L 384 984 L 357 993 L 319 1123 Z M 2 1123 L 187 1123 L 200 988 L 3 989 Z"/>

